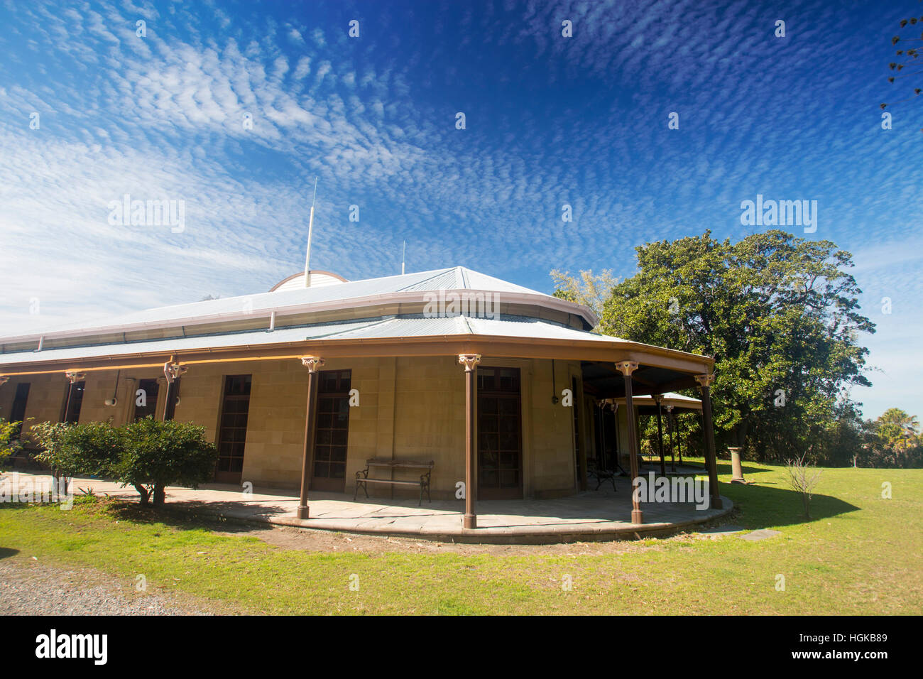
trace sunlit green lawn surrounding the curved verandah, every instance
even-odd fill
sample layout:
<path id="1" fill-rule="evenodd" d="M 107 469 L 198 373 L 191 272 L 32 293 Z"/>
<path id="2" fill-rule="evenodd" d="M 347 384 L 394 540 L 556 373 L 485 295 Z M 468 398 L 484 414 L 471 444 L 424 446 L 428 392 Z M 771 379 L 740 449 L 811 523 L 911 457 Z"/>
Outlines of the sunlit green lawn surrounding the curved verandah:
<path id="1" fill-rule="evenodd" d="M 719 465 L 721 479 L 729 472 Z M 139 515 L 102 502 L 78 502 L 69 512 L 0 504 L 0 558 L 89 566 L 126 588 L 144 574 L 149 591 L 249 612 L 923 612 L 923 469 L 826 469 L 812 521 L 802 517 L 782 467 L 745 463 L 745 475 L 754 485 L 722 484 L 737 505 L 727 521 L 782 535 L 536 546 L 515 555 L 304 552 L 218 535 L 212 528 L 226 525 L 176 512 Z M 892 484 L 892 499 L 882 499 L 883 481 Z M 353 574 L 358 591 L 350 590 Z M 785 591 L 776 589 L 780 574 Z"/>

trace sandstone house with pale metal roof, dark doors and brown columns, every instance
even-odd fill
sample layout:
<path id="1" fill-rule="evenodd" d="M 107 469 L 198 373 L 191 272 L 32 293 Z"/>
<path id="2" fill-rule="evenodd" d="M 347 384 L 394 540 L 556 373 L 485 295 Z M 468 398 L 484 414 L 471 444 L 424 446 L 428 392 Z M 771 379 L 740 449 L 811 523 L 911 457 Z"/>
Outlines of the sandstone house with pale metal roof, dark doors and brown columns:
<path id="1" fill-rule="evenodd" d="M 433 496 L 464 489 L 474 528 L 478 500 L 585 488 L 595 404 L 623 399 L 620 448 L 636 478 L 632 398 L 699 386 L 720 506 L 713 358 L 595 334 L 596 323 L 584 306 L 464 267 L 352 282 L 296 273 L 267 293 L 2 337 L 0 415 L 195 422 L 218 446 L 216 481 L 298 488 L 302 517 L 310 491 L 354 491 L 367 459 L 432 460 Z M 637 500 L 631 520 L 643 522 Z"/>

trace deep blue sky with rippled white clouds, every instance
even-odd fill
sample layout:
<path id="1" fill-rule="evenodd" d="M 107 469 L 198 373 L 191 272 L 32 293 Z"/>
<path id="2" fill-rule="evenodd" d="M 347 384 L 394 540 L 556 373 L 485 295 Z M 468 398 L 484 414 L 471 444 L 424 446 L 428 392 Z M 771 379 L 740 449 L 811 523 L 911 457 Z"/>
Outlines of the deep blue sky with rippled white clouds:
<path id="1" fill-rule="evenodd" d="M 923 96 L 887 81 L 910 16 L 0 0 L 0 333 L 267 291 L 304 269 L 315 177 L 312 269 L 400 273 L 406 240 L 408 272 L 548 293 L 552 269 L 632 275 L 645 242 L 772 228 L 741 224 L 761 195 L 816 200 L 816 231 L 786 230 L 853 255 L 864 414 L 923 416 Z M 123 220 L 126 195 L 174 223 Z"/>

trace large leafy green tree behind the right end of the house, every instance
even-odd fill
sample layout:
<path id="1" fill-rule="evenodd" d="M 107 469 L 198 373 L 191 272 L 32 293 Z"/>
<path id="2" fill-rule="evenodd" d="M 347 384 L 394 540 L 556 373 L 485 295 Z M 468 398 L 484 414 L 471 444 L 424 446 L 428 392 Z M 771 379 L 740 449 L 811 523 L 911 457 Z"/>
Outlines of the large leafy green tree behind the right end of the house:
<path id="1" fill-rule="evenodd" d="M 864 377 L 851 255 L 772 230 L 732 243 L 701 236 L 637 248 L 639 273 L 605 302 L 605 334 L 715 358 L 719 439 L 758 455 L 826 457 Z M 847 413 L 847 415 L 844 415 Z"/>

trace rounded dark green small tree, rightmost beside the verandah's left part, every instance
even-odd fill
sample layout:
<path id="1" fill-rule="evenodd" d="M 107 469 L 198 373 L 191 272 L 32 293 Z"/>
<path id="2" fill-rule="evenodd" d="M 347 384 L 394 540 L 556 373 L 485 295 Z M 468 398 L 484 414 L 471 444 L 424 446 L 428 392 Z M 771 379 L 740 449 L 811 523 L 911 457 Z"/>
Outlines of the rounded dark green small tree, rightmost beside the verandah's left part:
<path id="1" fill-rule="evenodd" d="M 167 486 L 198 488 L 211 479 L 218 450 L 205 428 L 189 422 L 139 419 L 122 428 L 124 448 L 115 467 L 117 479 L 135 487 L 141 504 L 163 504 Z"/>

